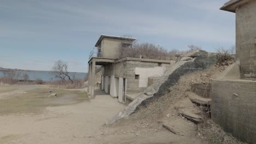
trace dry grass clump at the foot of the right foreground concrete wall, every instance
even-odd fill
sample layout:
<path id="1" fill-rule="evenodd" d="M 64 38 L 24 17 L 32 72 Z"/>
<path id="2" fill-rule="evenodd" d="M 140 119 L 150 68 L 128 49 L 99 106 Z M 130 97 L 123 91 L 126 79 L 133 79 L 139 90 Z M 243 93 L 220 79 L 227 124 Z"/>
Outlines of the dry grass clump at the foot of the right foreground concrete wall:
<path id="1" fill-rule="evenodd" d="M 203 140 L 210 144 L 245 144 L 235 137 L 225 133 L 217 124 L 210 119 L 198 125 L 198 131 Z"/>

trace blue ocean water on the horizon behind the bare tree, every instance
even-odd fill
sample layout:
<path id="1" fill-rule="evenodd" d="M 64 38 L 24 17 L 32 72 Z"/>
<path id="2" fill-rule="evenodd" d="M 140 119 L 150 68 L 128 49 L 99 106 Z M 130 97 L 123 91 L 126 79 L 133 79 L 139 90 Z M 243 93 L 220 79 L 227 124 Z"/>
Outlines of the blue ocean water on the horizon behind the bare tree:
<path id="1" fill-rule="evenodd" d="M 28 75 L 29 80 L 42 79 L 43 81 L 52 81 L 57 80 L 52 71 L 37 71 L 37 70 L 16 70 L 16 73 L 19 73 L 18 79 L 23 80 L 23 76 L 25 73 Z M 70 72 L 69 76 L 73 79 L 84 79 L 87 73 L 74 73 Z M 4 72 L 0 71 L 0 77 L 4 76 Z"/>

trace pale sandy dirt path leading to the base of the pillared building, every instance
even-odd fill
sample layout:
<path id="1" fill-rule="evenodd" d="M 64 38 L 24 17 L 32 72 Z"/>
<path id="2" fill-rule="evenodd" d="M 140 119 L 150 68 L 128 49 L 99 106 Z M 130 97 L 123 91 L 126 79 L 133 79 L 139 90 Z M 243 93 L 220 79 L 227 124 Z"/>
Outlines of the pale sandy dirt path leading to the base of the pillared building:
<path id="1" fill-rule="evenodd" d="M 95 100 L 47 107 L 40 115 L 0 116 L 0 143 L 87 143 L 123 108 L 117 99 L 97 91 Z"/>

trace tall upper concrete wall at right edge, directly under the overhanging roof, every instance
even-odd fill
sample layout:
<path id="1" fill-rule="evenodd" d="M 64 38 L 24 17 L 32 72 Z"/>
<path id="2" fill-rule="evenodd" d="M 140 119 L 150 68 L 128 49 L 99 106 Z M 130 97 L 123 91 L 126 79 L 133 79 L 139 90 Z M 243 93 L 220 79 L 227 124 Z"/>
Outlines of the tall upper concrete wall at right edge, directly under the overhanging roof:
<path id="1" fill-rule="evenodd" d="M 256 79 L 256 1 L 236 9 L 236 58 L 242 78 Z"/>

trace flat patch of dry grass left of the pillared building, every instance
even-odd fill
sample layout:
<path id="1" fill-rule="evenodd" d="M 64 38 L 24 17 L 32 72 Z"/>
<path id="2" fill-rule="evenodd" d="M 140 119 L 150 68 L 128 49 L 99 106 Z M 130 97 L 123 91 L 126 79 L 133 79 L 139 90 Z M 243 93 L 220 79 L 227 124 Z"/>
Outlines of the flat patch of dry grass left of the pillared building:
<path id="1" fill-rule="evenodd" d="M 0 115 L 11 113 L 40 113 L 47 106 L 60 106 L 81 103 L 89 100 L 86 92 L 67 91 L 61 88 L 52 89 L 57 97 L 48 97 L 51 89 L 38 88 L 26 91 L 25 94 L 10 95 L 1 99 Z"/>

